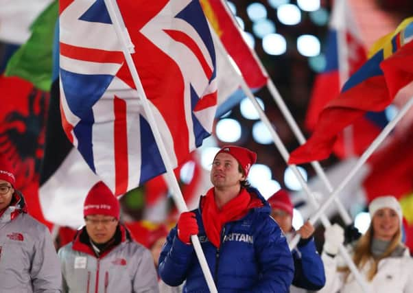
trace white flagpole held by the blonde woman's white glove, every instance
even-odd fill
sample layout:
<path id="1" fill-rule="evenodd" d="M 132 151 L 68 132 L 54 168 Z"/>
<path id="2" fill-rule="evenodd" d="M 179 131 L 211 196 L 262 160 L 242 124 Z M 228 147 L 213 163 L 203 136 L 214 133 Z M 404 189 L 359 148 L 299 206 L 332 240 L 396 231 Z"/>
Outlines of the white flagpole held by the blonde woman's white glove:
<path id="1" fill-rule="evenodd" d="M 216 45 L 217 45 L 218 49 L 222 50 L 226 54 L 226 56 L 228 56 L 228 53 L 226 52 L 226 49 L 224 48 L 224 46 L 222 45 L 222 43 L 220 42 L 219 39 L 217 39 L 217 44 Z M 233 65 L 233 63 L 231 63 L 231 64 Z M 261 109 L 261 106 L 259 106 L 259 104 L 258 104 L 257 100 L 255 99 L 252 91 L 250 90 L 249 86 L 246 84 L 246 82 L 244 80 L 244 77 L 241 75 L 241 73 L 239 73 L 237 71 L 237 69 L 235 69 L 234 65 L 232 66 L 232 69 L 233 69 L 234 74 L 237 75 L 238 78 L 239 78 L 239 83 L 241 84 L 241 89 L 244 91 L 244 93 L 247 95 L 247 97 L 250 99 L 250 101 L 254 105 L 255 109 L 259 113 L 259 117 L 260 117 L 261 121 L 263 121 L 263 123 L 266 124 L 268 130 L 270 131 L 270 133 L 272 135 L 272 139 L 274 140 L 274 144 L 276 145 L 276 148 L 278 148 L 279 152 L 281 153 L 281 156 L 283 156 L 283 159 L 285 160 L 285 162 L 287 162 L 290 154 L 288 153 L 287 149 L 285 148 L 285 145 L 283 144 L 283 142 L 281 141 L 279 135 L 276 133 L 276 131 L 272 127 L 270 120 L 268 119 L 266 114 Z M 290 167 L 292 167 L 292 171 L 294 172 L 294 174 L 298 178 L 298 181 L 300 182 L 300 185 L 303 187 L 303 189 L 309 195 L 309 199 L 310 199 L 311 204 L 313 204 L 314 207 L 316 207 L 316 209 L 318 209 L 319 204 L 316 201 L 316 198 L 314 198 L 314 194 L 311 193 L 311 191 L 310 191 L 307 183 L 305 182 L 303 176 L 298 171 L 296 165 L 290 165 Z M 331 226 L 331 223 L 329 222 L 329 219 L 325 215 L 321 215 L 321 222 L 325 227 Z M 292 250 L 294 247 L 290 246 L 290 249 Z M 357 279 L 357 281 L 359 281 L 359 284 L 362 286 L 364 292 L 368 292 L 367 289 L 366 289 L 367 287 L 366 287 L 366 283 L 364 281 L 364 278 L 362 277 L 361 274 L 359 274 L 359 271 L 355 267 L 355 264 L 353 263 L 349 253 L 347 252 L 346 248 L 344 248 L 343 245 L 341 245 L 341 247 L 340 247 L 340 253 L 342 254 L 342 257 L 344 258 L 344 261 L 346 261 L 346 263 L 348 264 L 351 272 L 353 272 L 353 274 L 354 274 L 355 278 Z"/>

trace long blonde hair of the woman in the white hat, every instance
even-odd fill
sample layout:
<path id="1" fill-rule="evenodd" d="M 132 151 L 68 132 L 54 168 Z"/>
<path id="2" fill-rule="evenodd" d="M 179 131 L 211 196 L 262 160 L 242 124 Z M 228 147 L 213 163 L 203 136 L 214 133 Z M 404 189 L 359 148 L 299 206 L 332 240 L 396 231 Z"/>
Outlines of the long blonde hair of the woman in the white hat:
<path id="1" fill-rule="evenodd" d="M 370 267 L 370 269 L 367 272 L 367 280 L 372 281 L 375 275 L 377 274 L 377 266 L 379 264 L 379 261 L 381 259 L 385 259 L 386 257 L 389 257 L 393 251 L 399 246 L 401 243 L 401 228 L 399 226 L 399 229 L 397 232 L 394 234 L 392 237 L 392 240 L 390 241 L 390 245 L 382 255 L 379 257 L 373 257 L 373 254 L 371 253 L 371 245 L 373 242 L 373 221 L 370 222 L 370 226 L 368 227 L 368 230 L 360 239 L 358 240 L 357 244 L 355 245 L 354 252 L 353 252 L 353 261 L 355 263 L 355 266 L 359 268 L 360 270 L 363 268 L 363 266 L 366 264 L 367 261 L 370 259 L 373 259 L 373 263 Z M 349 277 L 350 270 L 349 267 L 340 267 L 338 268 L 339 272 L 346 272 L 345 279 Z"/>

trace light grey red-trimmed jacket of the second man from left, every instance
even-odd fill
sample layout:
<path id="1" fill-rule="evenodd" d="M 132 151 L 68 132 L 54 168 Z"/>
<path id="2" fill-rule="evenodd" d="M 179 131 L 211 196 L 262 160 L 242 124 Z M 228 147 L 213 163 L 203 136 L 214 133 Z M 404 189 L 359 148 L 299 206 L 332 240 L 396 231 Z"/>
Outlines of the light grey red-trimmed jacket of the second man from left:
<path id="1" fill-rule="evenodd" d="M 60 248 L 63 292 L 158 293 L 154 260 L 147 248 L 130 239 L 123 226 L 121 242 L 95 257 L 86 228 L 73 242 Z"/>

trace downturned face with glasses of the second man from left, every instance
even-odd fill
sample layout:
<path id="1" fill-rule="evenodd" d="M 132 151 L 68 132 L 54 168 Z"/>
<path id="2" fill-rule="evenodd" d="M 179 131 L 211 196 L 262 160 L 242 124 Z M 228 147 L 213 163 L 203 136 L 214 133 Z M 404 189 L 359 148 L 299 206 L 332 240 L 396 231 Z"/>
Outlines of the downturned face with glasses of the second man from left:
<path id="1" fill-rule="evenodd" d="M 115 235 L 117 224 L 116 218 L 110 215 L 88 215 L 84 219 L 86 232 L 96 244 L 104 244 Z"/>

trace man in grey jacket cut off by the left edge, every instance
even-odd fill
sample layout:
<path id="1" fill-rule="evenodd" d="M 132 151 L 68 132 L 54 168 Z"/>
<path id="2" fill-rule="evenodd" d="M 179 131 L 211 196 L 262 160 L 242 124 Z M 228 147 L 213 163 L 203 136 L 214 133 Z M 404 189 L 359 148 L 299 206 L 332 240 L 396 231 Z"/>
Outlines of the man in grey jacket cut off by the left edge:
<path id="1" fill-rule="evenodd" d="M 27 214 L 10 162 L 0 157 L 0 292 L 60 292 L 60 263 L 47 227 Z"/>

